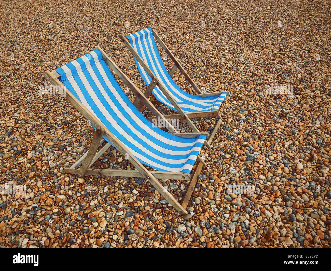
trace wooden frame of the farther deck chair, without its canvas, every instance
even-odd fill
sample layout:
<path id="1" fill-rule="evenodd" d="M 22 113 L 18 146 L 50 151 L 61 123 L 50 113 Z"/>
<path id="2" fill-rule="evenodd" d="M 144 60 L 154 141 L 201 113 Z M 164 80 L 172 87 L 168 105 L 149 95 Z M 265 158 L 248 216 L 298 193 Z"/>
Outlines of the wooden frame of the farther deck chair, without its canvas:
<path id="1" fill-rule="evenodd" d="M 165 52 L 167 53 L 167 55 L 174 62 L 174 65 L 172 66 L 172 68 L 168 72 L 171 77 L 172 77 L 172 75 L 175 73 L 175 71 L 178 68 L 180 70 L 180 72 L 184 75 L 184 77 L 186 78 L 186 80 L 191 84 L 191 86 L 194 88 L 194 90 L 198 93 L 198 96 L 204 96 L 204 97 L 206 97 L 206 96 L 213 96 L 213 95 L 221 94 L 223 92 L 227 92 L 228 95 L 230 94 L 229 91 L 219 91 L 219 92 L 202 93 L 201 90 L 198 88 L 198 86 L 194 83 L 194 81 L 192 80 L 192 78 L 188 75 L 188 73 L 186 72 L 186 70 L 182 67 L 181 61 L 178 60 L 173 55 L 173 53 L 166 46 L 166 44 L 163 42 L 163 40 L 160 38 L 160 36 L 157 34 L 157 32 L 150 25 L 148 25 L 148 27 L 150 27 L 152 29 L 154 38 L 159 42 L 159 44 L 161 45 L 161 47 L 165 50 Z M 132 53 L 132 55 L 137 59 L 137 61 L 144 68 L 144 70 L 147 72 L 147 74 L 151 78 L 156 78 L 156 76 L 151 71 L 151 69 L 148 67 L 148 65 L 144 62 L 144 60 L 139 56 L 139 54 L 134 50 L 134 48 L 132 47 L 132 45 L 129 43 L 128 38 L 125 37 L 122 34 L 119 36 L 119 38 L 125 44 L 125 46 L 129 49 L 129 51 Z M 176 101 L 171 97 L 171 95 L 167 91 L 166 87 L 161 82 L 158 82 L 158 81 L 156 82 L 156 85 L 160 88 L 160 90 L 164 93 L 164 95 L 166 96 L 166 98 L 171 102 L 171 104 L 173 105 L 173 107 L 178 112 L 178 114 L 165 115 L 165 117 L 167 119 L 173 119 L 173 118 L 184 119 L 186 121 L 186 123 L 191 127 L 192 131 L 195 132 L 195 133 L 198 133 L 199 130 L 193 124 L 193 122 L 191 121 L 191 118 L 215 117 L 215 118 L 218 119 L 218 121 L 216 122 L 216 124 L 214 126 L 214 129 L 213 129 L 212 133 L 208 137 L 208 140 L 206 139 L 205 140 L 205 143 L 204 143 L 204 145 L 206 145 L 208 148 L 211 148 L 211 145 L 210 144 L 212 143 L 213 138 L 214 138 L 216 132 L 218 131 L 218 128 L 219 128 L 219 126 L 221 125 L 221 122 L 222 122 L 222 117 L 218 113 L 218 111 L 184 113 L 183 110 L 180 108 L 180 106 L 176 103 Z M 147 91 L 145 92 L 145 97 L 146 98 L 148 98 L 150 96 L 150 94 L 152 93 L 152 90 L 153 90 L 153 88 L 150 89 L 150 92 L 147 92 Z M 137 97 L 136 99 L 139 99 L 139 98 Z M 161 104 L 161 102 L 159 102 L 159 101 L 155 102 L 156 100 L 155 100 L 154 95 L 151 98 L 151 101 L 153 102 L 154 105 Z M 139 103 L 139 101 L 138 101 L 138 103 Z M 144 108 L 141 108 L 141 110 L 143 110 L 143 109 Z M 153 117 L 151 117 L 151 118 L 153 118 Z M 148 118 L 148 119 L 151 120 L 151 118 Z"/>

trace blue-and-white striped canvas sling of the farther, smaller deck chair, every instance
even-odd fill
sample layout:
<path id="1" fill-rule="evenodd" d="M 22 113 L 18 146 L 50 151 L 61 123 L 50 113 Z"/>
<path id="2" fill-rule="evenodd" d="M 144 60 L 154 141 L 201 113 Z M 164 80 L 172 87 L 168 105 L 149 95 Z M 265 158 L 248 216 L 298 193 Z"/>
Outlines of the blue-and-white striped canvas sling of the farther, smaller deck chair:
<path id="1" fill-rule="evenodd" d="M 126 37 L 129 39 L 132 47 L 154 73 L 156 78 L 159 79 L 159 82 L 163 84 L 165 89 L 168 90 L 170 95 L 185 113 L 214 111 L 219 109 L 227 95 L 226 92 L 223 92 L 221 95 L 199 97 L 186 93 L 177 86 L 163 64 L 151 28 L 148 27 Z M 151 82 L 151 77 L 141 67 L 136 58 L 135 61 L 143 80 L 148 85 Z M 153 94 L 160 102 L 176 111 L 159 87 L 154 88 Z"/>

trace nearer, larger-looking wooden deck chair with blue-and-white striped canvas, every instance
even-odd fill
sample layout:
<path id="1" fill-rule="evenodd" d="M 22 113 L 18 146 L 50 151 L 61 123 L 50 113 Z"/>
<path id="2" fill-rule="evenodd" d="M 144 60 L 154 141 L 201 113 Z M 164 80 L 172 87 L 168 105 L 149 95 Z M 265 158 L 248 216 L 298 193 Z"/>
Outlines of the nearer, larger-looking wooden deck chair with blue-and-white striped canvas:
<path id="1" fill-rule="evenodd" d="M 167 127 L 170 133 L 156 127 L 133 106 L 110 68 L 155 116 L 167 122 L 144 93 L 99 47 L 61 68 L 46 71 L 45 78 L 53 85 L 63 87 L 67 100 L 96 129 L 88 152 L 71 167 L 65 167 L 65 172 L 79 176 L 146 178 L 181 215 L 187 214 L 186 207 L 202 166 L 206 164 L 199 156 L 206 133 L 179 133 L 169 122 Z M 154 79 L 152 86 L 156 82 L 157 79 Z M 97 153 L 104 141 L 107 144 Z M 90 168 L 111 145 L 128 159 L 135 170 Z M 196 160 L 197 165 L 192 170 Z M 145 165 L 155 170 L 150 171 Z M 181 203 L 157 179 L 190 180 Z"/>

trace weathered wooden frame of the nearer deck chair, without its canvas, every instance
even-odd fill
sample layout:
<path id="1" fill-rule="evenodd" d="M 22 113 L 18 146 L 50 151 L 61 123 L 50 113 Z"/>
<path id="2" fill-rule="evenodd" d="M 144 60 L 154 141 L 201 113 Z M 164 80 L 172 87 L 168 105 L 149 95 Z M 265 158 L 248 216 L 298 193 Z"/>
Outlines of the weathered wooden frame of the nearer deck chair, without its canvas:
<path id="1" fill-rule="evenodd" d="M 131 80 L 118 68 L 118 66 L 108 57 L 108 55 L 100 48 L 96 47 L 102 53 L 103 59 L 111 68 L 116 75 L 131 89 L 132 92 L 136 94 L 139 98 L 138 104 L 143 104 L 146 106 L 155 116 L 159 116 L 164 119 L 167 123 L 167 129 L 170 133 L 175 134 L 180 137 L 196 137 L 201 134 L 207 133 L 180 133 L 167 121 L 167 119 L 154 107 L 154 105 L 146 98 L 144 93 L 140 91 Z M 202 170 L 202 166 L 206 163 L 202 160 L 200 156 L 197 158 L 196 168 L 191 171 L 191 174 L 181 173 L 181 172 L 166 172 L 166 171 L 149 171 L 147 168 L 137 160 L 126 147 L 112 134 L 106 126 L 103 125 L 97 118 L 91 114 L 86 107 L 84 107 L 64 86 L 64 84 L 59 80 L 60 75 L 54 71 L 45 71 L 45 78 L 53 85 L 62 86 L 66 91 L 66 99 L 81 113 L 90 123 L 96 127 L 95 135 L 93 137 L 92 143 L 89 150 L 80 157 L 71 167 L 65 167 L 66 173 L 78 174 L 79 176 L 84 175 L 106 175 L 106 176 L 122 176 L 122 177 L 137 177 L 146 178 L 155 189 L 170 203 L 181 215 L 187 214 L 186 207 L 189 203 L 191 195 L 193 193 L 194 187 L 198 180 L 199 174 Z M 155 81 L 154 81 L 155 80 Z M 154 82 L 153 82 L 154 81 Z M 147 87 L 145 91 L 151 91 L 156 85 L 158 80 L 153 78 L 152 83 Z M 136 168 L 136 170 L 125 170 L 125 169 L 92 169 L 90 166 L 109 148 L 111 144 L 107 144 L 99 151 L 100 147 L 105 140 L 102 137 L 107 138 L 107 140 L 122 154 L 128 157 L 128 161 Z M 79 167 L 80 166 L 80 167 Z M 186 193 L 183 196 L 181 203 L 178 203 L 174 197 L 162 186 L 162 184 L 157 179 L 172 179 L 172 180 L 190 180 Z"/>

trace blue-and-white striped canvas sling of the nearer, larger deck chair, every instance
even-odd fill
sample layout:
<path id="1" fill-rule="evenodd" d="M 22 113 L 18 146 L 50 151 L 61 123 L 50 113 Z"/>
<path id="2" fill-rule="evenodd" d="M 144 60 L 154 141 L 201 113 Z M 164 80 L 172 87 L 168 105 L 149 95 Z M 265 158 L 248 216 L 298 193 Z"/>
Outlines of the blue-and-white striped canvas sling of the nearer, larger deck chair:
<path id="1" fill-rule="evenodd" d="M 148 121 L 122 91 L 98 49 L 56 71 L 68 91 L 141 163 L 160 171 L 191 172 L 206 136 L 180 138 Z"/>

